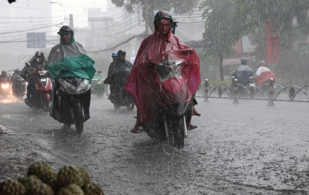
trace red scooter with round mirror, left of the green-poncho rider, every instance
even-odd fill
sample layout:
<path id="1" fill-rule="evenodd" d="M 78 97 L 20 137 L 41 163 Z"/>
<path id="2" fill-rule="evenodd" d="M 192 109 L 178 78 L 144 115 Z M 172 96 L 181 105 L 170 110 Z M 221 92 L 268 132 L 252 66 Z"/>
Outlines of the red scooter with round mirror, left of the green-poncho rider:
<path id="1" fill-rule="evenodd" d="M 28 67 L 30 63 L 26 62 Z M 32 68 L 32 67 L 31 67 Z M 49 111 L 49 103 L 52 96 L 52 81 L 48 77 L 48 71 L 44 70 L 44 68 L 34 69 L 33 76 L 36 76 L 35 85 L 33 87 L 33 97 L 34 105 L 37 109 L 42 109 L 44 111 Z M 28 98 L 25 99 L 25 103 L 27 106 L 31 107 Z"/>

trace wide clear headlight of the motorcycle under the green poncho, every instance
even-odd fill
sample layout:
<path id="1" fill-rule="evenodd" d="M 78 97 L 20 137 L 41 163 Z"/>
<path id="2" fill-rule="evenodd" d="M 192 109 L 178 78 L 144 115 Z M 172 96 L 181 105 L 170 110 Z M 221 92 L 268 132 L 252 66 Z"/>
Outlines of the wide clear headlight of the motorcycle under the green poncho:
<path id="1" fill-rule="evenodd" d="M 91 89 L 91 85 L 89 85 L 89 81 L 87 79 L 84 79 L 83 82 L 81 82 L 77 87 L 64 79 L 60 79 L 60 81 L 62 85 L 62 89 L 60 90 L 65 90 L 69 94 L 86 93 L 89 89 Z"/>

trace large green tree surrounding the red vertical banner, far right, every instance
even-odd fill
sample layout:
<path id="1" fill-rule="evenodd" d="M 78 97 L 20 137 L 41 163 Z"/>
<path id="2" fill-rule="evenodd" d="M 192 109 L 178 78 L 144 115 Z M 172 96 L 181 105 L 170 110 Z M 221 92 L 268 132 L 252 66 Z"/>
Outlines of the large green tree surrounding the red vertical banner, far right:
<path id="1" fill-rule="evenodd" d="M 308 47 L 299 45 L 298 41 L 307 39 L 309 1 L 235 0 L 235 7 L 238 12 L 233 15 L 249 24 L 243 30 L 244 33 L 251 34 L 252 43 L 257 45 L 257 57 L 260 59 L 266 59 L 265 23 L 271 22 L 274 29 L 279 29 L 281 62 L 277 64 L 276 73 L 286 78 L 290 85 L 296 82 L 303 84 L 296 79 L 306 78 L 309 73 L 308 56 L 304 54 Z"/>

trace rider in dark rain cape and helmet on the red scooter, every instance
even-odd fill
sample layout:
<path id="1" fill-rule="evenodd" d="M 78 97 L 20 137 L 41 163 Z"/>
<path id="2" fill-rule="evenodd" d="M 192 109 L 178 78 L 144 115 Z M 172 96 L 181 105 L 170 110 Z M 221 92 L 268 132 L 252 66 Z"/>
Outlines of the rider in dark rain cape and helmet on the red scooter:
<path id="1" fill-rule="evenodd" d="M 47 60 L 44 57 L 44 53 L 40 50 L 36 51 L 36 54 L 34 56 L 34 59 L 29 61 L 30 66 L 32 68 L 40 69 L 44 68 L 47 65 Z M 29 102 L 29 107 L 34 106 L 34 90 L 35 90 L 35 79 L 37 78 L 37 75 L 34 75 L 34 70 L 30 67 L 25 67 L 25 70 L 23 68 L 21 75 L 23 76 L 24 73 L 26 73 L 25 80 L 28 82 L 27 85 L 27 98 L 26 101 Z"/>

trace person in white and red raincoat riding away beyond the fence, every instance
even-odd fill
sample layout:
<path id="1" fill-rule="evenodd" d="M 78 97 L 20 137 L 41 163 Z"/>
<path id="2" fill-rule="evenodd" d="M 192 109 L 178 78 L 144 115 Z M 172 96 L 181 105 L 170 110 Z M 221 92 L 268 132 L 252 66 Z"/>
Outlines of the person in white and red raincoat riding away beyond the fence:
<path id="1" fill-rule="evenodd" d="M 265 67 L 265 62 L 262 60 L 259 64 L 260 67 L 256 70 L 256 73 L 254 74 L 254 77 L 256 79 L 256 85 L 260 87 L 266 84 L 270 78 L 273 78 L 275 81 L 275 75 L 269 68 Z"/>

